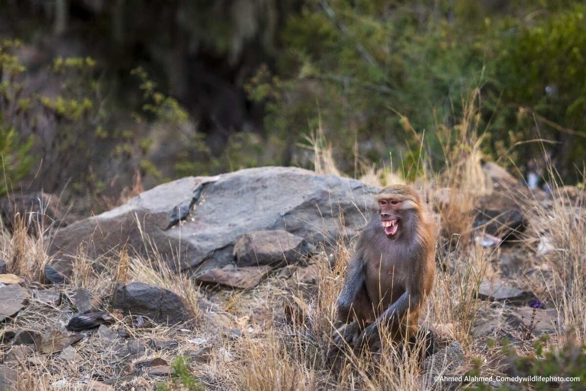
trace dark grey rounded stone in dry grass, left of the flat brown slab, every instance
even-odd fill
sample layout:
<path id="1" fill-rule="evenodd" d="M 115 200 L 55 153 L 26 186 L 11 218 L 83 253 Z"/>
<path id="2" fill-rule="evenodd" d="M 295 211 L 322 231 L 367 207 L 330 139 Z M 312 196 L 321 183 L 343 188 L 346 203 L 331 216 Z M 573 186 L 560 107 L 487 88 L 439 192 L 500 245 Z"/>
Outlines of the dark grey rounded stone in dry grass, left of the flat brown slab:
<path id="1" fill-rule="evenodd" d="M 194 318 L 193 311 L 176 293 L 141 282 L 118 283 L 114 308 L 151 318 L 157 323 L 183 323 Z"/>

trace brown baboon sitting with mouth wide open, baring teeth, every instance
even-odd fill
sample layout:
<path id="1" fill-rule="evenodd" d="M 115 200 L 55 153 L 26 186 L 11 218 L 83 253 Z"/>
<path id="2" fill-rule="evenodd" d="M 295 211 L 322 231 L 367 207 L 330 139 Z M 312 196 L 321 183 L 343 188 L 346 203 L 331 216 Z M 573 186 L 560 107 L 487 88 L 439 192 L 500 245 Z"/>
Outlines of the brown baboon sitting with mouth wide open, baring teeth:
<path id="1" fill-rule="evenodd" d="M 413 337 L 433 286 L 435 230 L 421 197 L 393 185 L 374 198 L 379 215 L 360 234 L 338 299 L 336 345 L 373 347 L 381 327 L 394 341 Z"/>

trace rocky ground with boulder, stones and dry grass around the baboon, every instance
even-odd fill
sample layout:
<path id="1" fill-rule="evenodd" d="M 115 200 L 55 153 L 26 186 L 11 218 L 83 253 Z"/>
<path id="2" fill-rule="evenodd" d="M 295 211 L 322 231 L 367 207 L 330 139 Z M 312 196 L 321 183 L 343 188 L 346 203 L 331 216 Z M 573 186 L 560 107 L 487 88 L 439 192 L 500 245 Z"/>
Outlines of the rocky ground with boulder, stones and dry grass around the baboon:
<path id="1" fill-rule="evenodd" d="M 440 224 L 421 320 L 432 349 L 370 358 L 377 374 L 326 357 L 376 186 L 266 167 L 174 181 L 76 222 L 49 195 L 5 201 L 0 389 L 415 390 L 461 386 L 442 374 L 516 375 L 512 356 L 540 338 L 561 346 L 572 328 L 583 343 L 571 316 L 583 307 L 567 302 L 580 292 L 561 271 L 583 249 L 583 193 L 530 193 L 494 164 L 482 175 L 482 193 L 421 185 Z"/>

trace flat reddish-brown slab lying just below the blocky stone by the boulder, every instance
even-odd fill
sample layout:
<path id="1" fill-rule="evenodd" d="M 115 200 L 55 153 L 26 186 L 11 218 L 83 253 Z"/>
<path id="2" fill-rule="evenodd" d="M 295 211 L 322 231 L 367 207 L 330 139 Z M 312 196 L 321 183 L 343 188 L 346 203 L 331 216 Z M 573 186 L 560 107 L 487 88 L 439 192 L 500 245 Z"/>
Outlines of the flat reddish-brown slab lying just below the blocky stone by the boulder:
<path id="1" fill-rule="evenodd" d="M 240 289 L 252 289 L 264 280 L 271 271 L 271 266 L 235 267 L 209 269 L 197 276 L 196 282 L 210 285 L 222 285 Z"/>

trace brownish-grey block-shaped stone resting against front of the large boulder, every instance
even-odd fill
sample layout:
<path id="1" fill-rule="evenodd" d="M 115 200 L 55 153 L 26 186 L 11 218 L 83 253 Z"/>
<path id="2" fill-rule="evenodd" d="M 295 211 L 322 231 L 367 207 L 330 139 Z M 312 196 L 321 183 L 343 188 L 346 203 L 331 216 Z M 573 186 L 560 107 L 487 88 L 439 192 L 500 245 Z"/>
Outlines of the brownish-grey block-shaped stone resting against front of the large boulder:
<path id="1" fill-rule="evenodd" d="M 292 265 L 309 253 L 305 239 L 282 229 L 248 232 L 234 243 L 238 266 Z"/>

